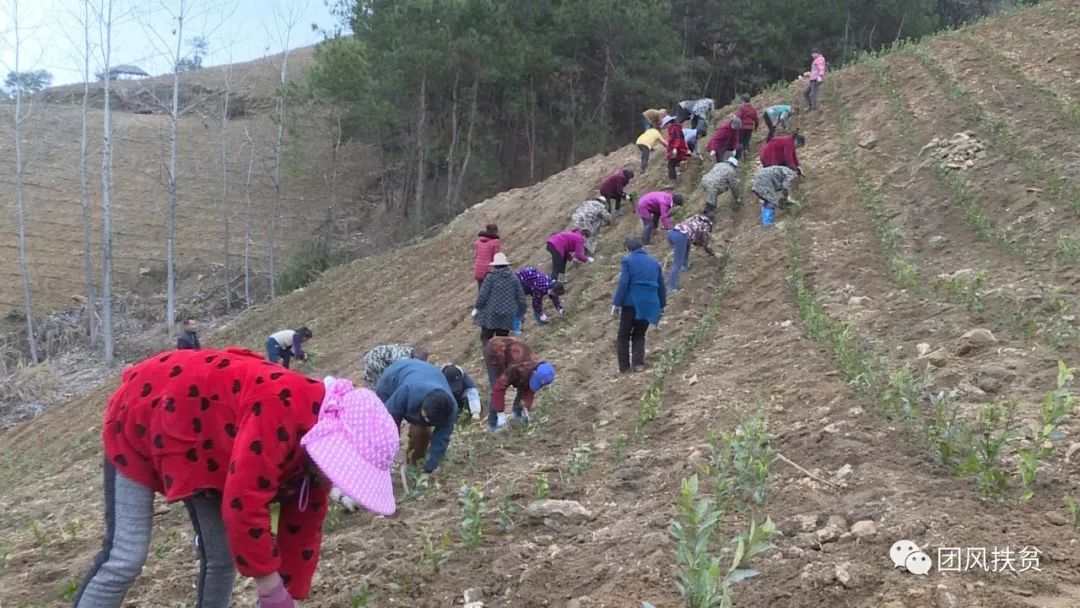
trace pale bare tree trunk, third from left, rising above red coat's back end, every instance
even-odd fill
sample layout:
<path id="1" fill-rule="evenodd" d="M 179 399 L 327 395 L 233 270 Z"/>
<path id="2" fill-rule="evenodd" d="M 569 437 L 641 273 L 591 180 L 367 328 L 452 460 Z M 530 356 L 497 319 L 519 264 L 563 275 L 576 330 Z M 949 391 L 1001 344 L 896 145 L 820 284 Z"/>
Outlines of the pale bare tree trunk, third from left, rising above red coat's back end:
<path id="1" fill-rule="evenodd" d="M 105 342 L 105 362 L 112 364 L 112 75 L 109 72 L 112 53 L 112 0 L 106 3 L 105 22 L 105 119 L 102 140 L 102 339 Z"/>

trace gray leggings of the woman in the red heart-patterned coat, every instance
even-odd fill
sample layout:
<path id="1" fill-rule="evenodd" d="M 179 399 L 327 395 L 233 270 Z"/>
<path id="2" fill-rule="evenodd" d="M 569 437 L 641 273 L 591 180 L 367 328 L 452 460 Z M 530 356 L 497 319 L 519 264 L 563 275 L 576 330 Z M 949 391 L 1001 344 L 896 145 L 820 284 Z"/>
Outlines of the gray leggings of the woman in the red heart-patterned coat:
<path id="1" fill-rule="evenodd" d="M 184 501 L 195 531 L 199 554 L 197 608 L 228 608 L 237 570 L 221 523 L 221 499 L 197 496 Z M 105 462 L 105 540 L 75 596 L 76 608 L 119 608 L 150 549 L 153 490 Z"/>

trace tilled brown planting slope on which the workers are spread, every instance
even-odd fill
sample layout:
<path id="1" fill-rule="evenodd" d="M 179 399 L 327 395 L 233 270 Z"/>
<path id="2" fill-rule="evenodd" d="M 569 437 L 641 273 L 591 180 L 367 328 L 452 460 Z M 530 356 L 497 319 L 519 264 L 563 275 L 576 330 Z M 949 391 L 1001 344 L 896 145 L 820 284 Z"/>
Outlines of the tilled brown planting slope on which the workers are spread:
<path id="1" fill-rule="evenodd" d="M 822 111 L 801 121 L 800 211 L 762 230 L 753 205 L 732 213 L 723 199 L 727 264 L 692 254 L 683 288 L 650 329 L 652 369 L 629 377 L 616 374 L 608 313 L 621 240 L 640 229 L 636 217 L 623 217 L 602 237 L 595 265 L 568 271 L 567 316 L 526 326 L 558 370 L 539 420 L 496 436 L 459 428 L 432 487 L 402 491 L 394 518 L 335 516 L 306 606 L 359 603 L 365 583 L 369 605 L 380 607 L 457 605 L 470 587 L 483 589 L 489 608 L 677 606 L 666 527 L 679 479 L 708 460 L 710 430 L 732 431 L 756 413 L 786 459 L 772 461 L 756 516 L 771 516 L 783 536 L 778 551 L 754 564 L 760 576 L 735 586 L 738 606 L 1080 605 L 1080 537 L 1063 503 L 1075 492 L 1075 420 L 1065 418 L 1065 438 L 1039 469 L 1035 498 L 1018 501 L 1013 479 L 996 502 L 937 462 L 943 444 L 922 434 L 927 419 L 914 417 L 932 414 L 929 394 L 956 389 L 946 403 L 960 419 L 986 404 L 1014 404 L 1016 425 L 1038 427 L 1057 361 L 1080 363 L 1080 276 L 1069 248 L 1080 176 L 1075 164 L 1052 162 L 1080 153 L 1070 136 L 1080 124 L 1065 103 L 1080 93 L 1071 76 L 1080 69 L 1078 22 L 1072 3 L 1048 2 L 831 73 Z M 793 85 L 755 103 L 799 93 Z M 1049 120 L 1032 124 L 1032 116 Z M 985 145 L 972 167 L 939 168 L 920 152 L 958 131 Z M 307 323 L 315 374 L 359 377 L 367 348 L 408 341 L 482 378 L 469 316 L 474 233 L 498 222 L 515 266 L 546 267 L 545 235 L 568 224 L 604 175 L 635 166 L 636 157 L 627 146 L 495 197 L 433 239 L 334 269 L 207 342 L 258 348 L 267 332 Z M 660 186 L 663 172 L 654 160 L 632 190 Z M 691 208 L 702 202 L 698 177 L 691 164 L 679 178 Z M 744 192 L 748 186 L 744 179 Z M 670 266 L 663 239 L 653 253 Z M 916 378 L 930 364 L 932 378 L 888 376 L 905 364 Z M 106 395 L 0 434 L 0 536 L 9 543 L 0 602 L 56 603 L 89 563 L 102 529 L 97 433 Z M 647 406 L 656 403 L 650 421 Z M 1007 454 L 1025 442 L 1010 440 Z M 1012 472 L 1012 460 L 994 464 Z M 507 511 L 513 526 L 498 525 L 500 505 L 529 502 L 542 475 L 552 498 L 576 500 L 590 516 Z M 457 541 L 462 481 L 483 488 L 489 510 L 473 550 Z M 718 537 L 745 529 L 751 513 L 732 508 Z M 433 571 L 444 533 L 453 553 Z M 989 556 L 1008 546 L 1014 571 L 1000 560 L 990 571 L 988 557 L 986 568 L 914 576 L 888 557 L 901 539 L 935 564 L 940 548 L 985 548 Z M 184 510 L 162 506 L 151 557 L 129 598 L 166 606 L 163 598 L 190 596 L 190 540 Z M 248 605 L 251 585 L 239 584 L 237 605 Z"/>

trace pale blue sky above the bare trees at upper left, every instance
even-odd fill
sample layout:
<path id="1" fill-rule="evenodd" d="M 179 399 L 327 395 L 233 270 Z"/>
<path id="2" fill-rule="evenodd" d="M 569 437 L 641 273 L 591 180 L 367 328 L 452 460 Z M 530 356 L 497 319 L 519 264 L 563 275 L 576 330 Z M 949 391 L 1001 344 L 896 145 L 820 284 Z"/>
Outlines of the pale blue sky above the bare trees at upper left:
<path id="1" fill-rule="evenodd" d="M 105 0 L 90 0 L 92 15 Z M 205 36 L 210 53 L 203 65 L 256 59 L 282 50 L 282 19 L 296 21 L 288 46 L 323 39 L 311 26 L 332 29 L 337 21 L 324 0 L 112 0 L 112 65 L 134 64 L 157 76 L 170 71 L 175 53 L 175 14 L 189 8 L 184 40 Z M 53 84 L 82 82 L 82 0 L 0 0 L 0 80 L 15 67 L 14 9 L 18 9 L 19 70 L 46 69 Z M 104 65 L 100 31 L 91 16 L 91 73 Z M 157 31 L 157 35 L 153 33 Z M 168 46 L 166 46 L 168 45 Z M 188 45 L 184 44 L 184 54 Z M 93 78 L 93 77 L 92 77 Z"/>

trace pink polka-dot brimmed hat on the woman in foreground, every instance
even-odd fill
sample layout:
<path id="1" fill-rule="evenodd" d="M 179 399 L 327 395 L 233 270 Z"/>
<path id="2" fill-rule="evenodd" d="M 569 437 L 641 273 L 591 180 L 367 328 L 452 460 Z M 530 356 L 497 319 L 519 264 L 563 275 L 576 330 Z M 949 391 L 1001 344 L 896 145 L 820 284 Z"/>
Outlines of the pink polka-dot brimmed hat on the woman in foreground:
<path id="1" fill-rule="evenodd" d="M 374 391 L 327 380 L 319 420 L 300 445 L 349 498 L 373 513 L 393 515 L 390 465 L 401 442 L 397 424 Z"/>

